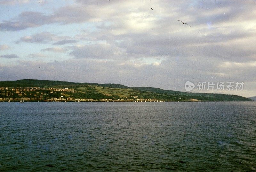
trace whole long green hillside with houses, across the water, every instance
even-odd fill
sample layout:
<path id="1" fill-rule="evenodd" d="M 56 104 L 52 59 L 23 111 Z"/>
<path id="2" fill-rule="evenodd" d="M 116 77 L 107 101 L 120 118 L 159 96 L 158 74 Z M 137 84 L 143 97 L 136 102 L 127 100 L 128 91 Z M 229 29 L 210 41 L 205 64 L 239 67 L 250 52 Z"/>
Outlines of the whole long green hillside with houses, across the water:
<path id="1" fill-rule="evenodd" d="M 152 87 L 127 87 L 121 84 L 79 83 L 48 80 L 23 79 L 18 81 L 2 81 L 0 98 L 17 101 L 26 100 L 76 100 L 104 101 L 251 101 L 249 98 L 226 94 L 188 93 L 163 90 Z M 5 90 L 9 87 L 8 90 Z M 65 88 L 68 88 L 65 90 Z M 62 96 L 62 97 L 61 97 Z M 61 98 L 60 98 L 61 97 Z M 193 100 L 192 100 L 193 99 Z"/>

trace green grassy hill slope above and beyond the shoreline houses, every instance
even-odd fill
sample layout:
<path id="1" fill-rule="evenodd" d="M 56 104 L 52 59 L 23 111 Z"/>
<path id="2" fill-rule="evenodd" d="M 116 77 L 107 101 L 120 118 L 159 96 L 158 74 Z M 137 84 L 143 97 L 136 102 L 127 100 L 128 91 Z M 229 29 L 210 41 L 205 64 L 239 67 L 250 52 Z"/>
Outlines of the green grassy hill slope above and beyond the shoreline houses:
<path id="1" fill-rule="evenodd" d="M 75 93 L 68 93 L 76 98 L 151 98 L 165 99 L 172 101 L 188 101 L 189 98 L 195 98 L 202 101 L 250 101 L 248 98 L 236 95 L 209 94 L 209 93 L 187 93 L 173 90 L 163 90 L 152 87 L 127 87 L 121 84 L 98 84 L 98 83 L 76 83 L 63 81 L 32 80 L 24 79 L 18 81 L 0 82 L 0 87 L 55 87 L 55 88 L 73 88 Z"/>

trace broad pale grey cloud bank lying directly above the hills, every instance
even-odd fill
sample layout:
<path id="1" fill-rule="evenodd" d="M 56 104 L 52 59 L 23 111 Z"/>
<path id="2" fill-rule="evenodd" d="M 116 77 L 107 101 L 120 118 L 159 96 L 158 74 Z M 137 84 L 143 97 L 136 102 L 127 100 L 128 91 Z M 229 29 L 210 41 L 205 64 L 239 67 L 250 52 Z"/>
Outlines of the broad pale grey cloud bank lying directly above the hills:
<path id="1" fill-rule="evenodd" d="M 183 86 L 187 80 L 195 83 L 243 81 L 248 90 L 254 89 L 256 84 L 256 75 L 253 72 L 256 61 L 236 63 L 240 67 L 242 65 L 243 72 L 221 67 L 220 65 L 225 63 L 222 59 L 204 61 L 204 58 L 166 59 L 158 65 L 129 60 L 95 59 L 69 59 L 49 63 L 18 61 L 18 63 L 17 66 L 0 66 L 2 71 L 0 80 L 34 78 L 72 82 L 120 83 L 127 86 L 150 86 L 180 91 L 184 91 Z M 230 64 L 231 67 L 233 65 Z M 77 71 L 79 71 L 79 75 L 74 75 Z M 217 73 L 225 74 L 216 75 Z M 251 85 L 247 85 L 247 83 L 251 83 Z M 237 92 L 236 94 L 245 95 L 247 93 Z"/>

